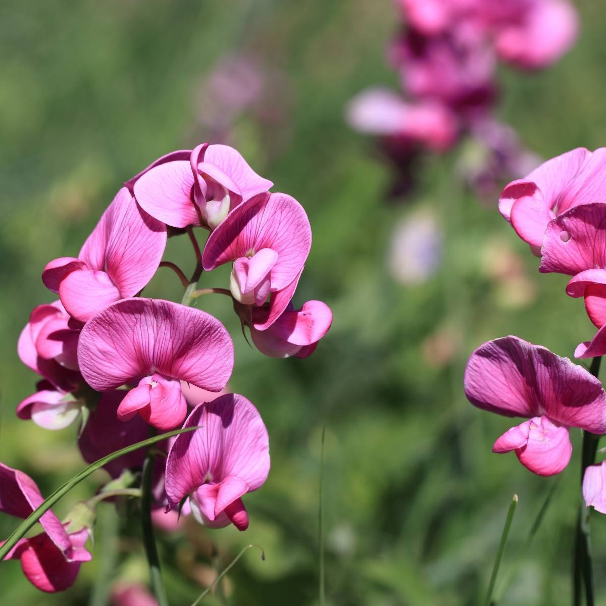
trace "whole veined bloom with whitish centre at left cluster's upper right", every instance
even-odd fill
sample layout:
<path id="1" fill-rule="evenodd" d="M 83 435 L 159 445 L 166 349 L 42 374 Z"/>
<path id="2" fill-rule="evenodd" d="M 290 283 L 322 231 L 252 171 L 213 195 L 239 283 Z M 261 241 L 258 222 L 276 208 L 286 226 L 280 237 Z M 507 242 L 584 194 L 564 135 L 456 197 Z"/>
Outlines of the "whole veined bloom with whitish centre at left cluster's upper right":
<path id="1" fill-rule="evenodd" d="M 230 212 L 211 233 L 202 265 L 211 271 L 233 261 L 231 294 L 244 305 L 262 305 L 291 284 L 311 247 L 305 210 L 283 193 L 262 193 Z"/>

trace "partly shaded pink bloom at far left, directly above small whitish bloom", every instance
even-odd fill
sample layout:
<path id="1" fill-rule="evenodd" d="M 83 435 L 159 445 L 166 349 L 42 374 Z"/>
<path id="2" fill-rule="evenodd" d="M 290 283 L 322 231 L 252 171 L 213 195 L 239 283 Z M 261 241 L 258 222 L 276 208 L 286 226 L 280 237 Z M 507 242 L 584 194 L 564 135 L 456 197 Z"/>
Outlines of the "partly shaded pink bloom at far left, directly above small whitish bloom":
<path id="1" fill-rule="evenodd" d="M 59 301 L 38 305 L 19 335 L 19 358 L 55 387 L 72 390 L 82 381 L 77 353 L 80 327 L 70 321 Z"/>

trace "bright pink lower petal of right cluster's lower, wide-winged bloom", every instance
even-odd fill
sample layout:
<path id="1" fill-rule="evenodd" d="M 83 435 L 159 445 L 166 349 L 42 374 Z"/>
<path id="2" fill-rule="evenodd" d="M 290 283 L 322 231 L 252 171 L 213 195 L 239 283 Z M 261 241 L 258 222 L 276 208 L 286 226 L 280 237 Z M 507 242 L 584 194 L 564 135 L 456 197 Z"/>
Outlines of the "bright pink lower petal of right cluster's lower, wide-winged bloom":
<path id="1" fill-rule="evenodd" d="M 572 444 L 567 427 L 541 416 L 512 427 L 494 443 L 494 452 L 510 450 L 533 473 L 553 476 L 568 465 Z"/>

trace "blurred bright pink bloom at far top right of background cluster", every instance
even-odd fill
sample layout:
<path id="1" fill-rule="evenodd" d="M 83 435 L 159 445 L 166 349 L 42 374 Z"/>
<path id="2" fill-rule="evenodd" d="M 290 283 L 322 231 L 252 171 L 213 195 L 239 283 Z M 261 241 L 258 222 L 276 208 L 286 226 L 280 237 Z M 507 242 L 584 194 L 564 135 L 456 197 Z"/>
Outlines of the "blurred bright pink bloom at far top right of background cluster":
<path id="1" fill-rule="evenodd" d="M 496 50 L 504 61 L 519 67 L 547 67 L 574 44 L 578 15 L 566 0 L 533 0 L 526 4 L 517 21 L 496 33 Z"/>

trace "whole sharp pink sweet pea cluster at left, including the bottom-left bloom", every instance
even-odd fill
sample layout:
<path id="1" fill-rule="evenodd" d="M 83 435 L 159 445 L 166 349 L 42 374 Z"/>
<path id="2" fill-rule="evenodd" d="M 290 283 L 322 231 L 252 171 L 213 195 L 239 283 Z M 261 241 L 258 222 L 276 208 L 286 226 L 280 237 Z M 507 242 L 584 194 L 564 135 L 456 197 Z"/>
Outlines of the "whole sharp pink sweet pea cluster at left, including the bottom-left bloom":
<path id="1" fill-rule="evenodd" d="M 227 296 L 242 330 L 273 358 L 310 356 L 330 328 L 323 302 L 293 303 L 311 228 L 301 204 L 272 186 L 227 145 L 174 151 L 124 184 L 77 256 L 54 259 L 42 272 L 58 299 L 38 305 L 19 337 L 19 357 L 39 381 L 16 413 L 51 430 L 80 419 L 78 447 L 89 463 L 150 431 L 195 428 L 159 443 L 168 457 L 153 468 L 153 519 L 178 510 L 210 528 L 245 530 L 245 495 L 264 484 L 270 468 L 258 410 L 228 393 L 231 337 L 191 302 Z M 199 233 L 208 233 L 203 250 Z M 190 279 L 163 260 L 168 236 L 185 234 L 196 261 Z M 226 284 L 196 290 L 202 275 L 225 264 Z M 181 280 L 180 303 L 143 295 L 160 267 Z M 146 453 L 139 448 L 106 462 L 112 487 L 131 496 L 139 485 L 145 490 Z M 93 513 L 84 519 L 78 507 L 63 522 L 47 511 L 42 533 L 21 539 L 5 558 L 19 559 L 42 591 L 70 587 L 91 558 L 85 544 L 105 494 L 122 492 L 101 489 L 85 502 Z M 26 518 L 43 501 L 29 476 L 0 464 L 1 511 Z"/>

